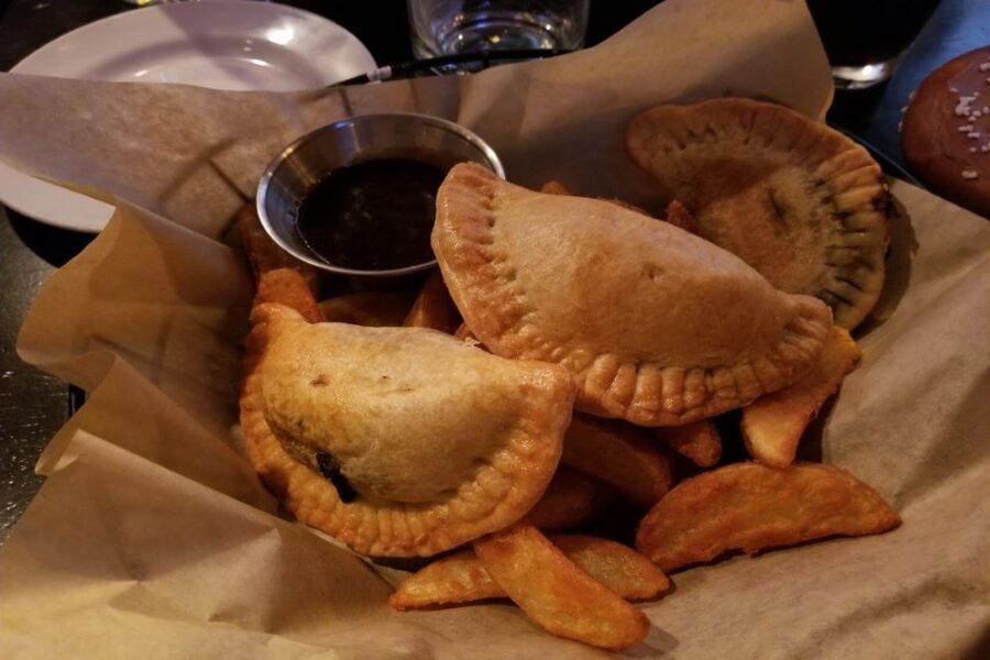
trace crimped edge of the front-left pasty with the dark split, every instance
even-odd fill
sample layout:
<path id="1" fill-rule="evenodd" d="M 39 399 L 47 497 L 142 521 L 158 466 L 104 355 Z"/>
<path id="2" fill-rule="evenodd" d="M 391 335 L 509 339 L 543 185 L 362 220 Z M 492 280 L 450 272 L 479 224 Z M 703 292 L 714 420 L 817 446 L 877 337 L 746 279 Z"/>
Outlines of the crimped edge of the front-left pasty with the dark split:
<path id="1" fill-rule="evenodd" d="M 272 307 L 278 306 L 263 305 L 252 312 L 241 427 L 255 471 L 300 521 L 362 554 L 428 557 L 515 522 L 542 496 L 560 460 L 571 417 L 573 383 L 564 374 L 543 388 L 530 388 L 525 415 L 509 433 L 507 455 L 480 465 L 475 479 L 453 497 L 428 504 L 342 502 L 329 481 L 285 450 L 265 420 L 260 366 Z M 554 406 L 561 388 L 566 391 L 568 404 Z"/>

